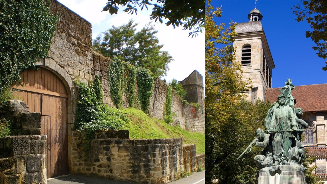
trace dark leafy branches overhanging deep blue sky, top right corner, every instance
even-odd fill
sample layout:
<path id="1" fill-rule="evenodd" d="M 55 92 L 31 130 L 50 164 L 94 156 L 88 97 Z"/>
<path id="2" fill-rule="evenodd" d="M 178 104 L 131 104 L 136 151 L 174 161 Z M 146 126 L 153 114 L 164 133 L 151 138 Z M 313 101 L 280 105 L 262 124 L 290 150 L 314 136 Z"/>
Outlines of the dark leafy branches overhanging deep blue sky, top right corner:
<path id="1" fill-rule="evenodd" d="M 298 22 L 304 19 L 311 26 L 313 31 L 306 31 L 306 37 L 311 38 L 317 46 L 313 46 L 314 50 L 318 50 L 318 57 L 327 58 L 327 1 L 324 0 L 301 0 L 300 3 L 292 7 L 293 13 L 298 16 Z M 322 67 L 323 71 L 327 71 L 326 66 Z"/>

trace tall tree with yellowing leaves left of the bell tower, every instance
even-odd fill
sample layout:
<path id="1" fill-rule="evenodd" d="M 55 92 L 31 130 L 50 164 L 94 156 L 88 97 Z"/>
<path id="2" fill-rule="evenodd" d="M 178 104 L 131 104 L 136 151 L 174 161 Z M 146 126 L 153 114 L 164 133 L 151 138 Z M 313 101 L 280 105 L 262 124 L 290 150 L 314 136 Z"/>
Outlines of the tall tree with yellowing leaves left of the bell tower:
<path id="1" fill-rule="evenodd" d="M 248 82 L 241 77 L 241 64 L 235 61 L 232 46 L 235 24 L 228 28 L 216 25 L 221 8 L 214 9 L 210 2 L 205 18 L 205 146 L 206 183 L 257 183 L 258 169 L 253 161 L 261 149 L 253 147 L 236 160 L 255 138 L 257 128 L 264 127 L 269 104 L 258 100 L 247 102 L 241 93 Z M 226 166 L 228 165 L 228 169 Z"/>

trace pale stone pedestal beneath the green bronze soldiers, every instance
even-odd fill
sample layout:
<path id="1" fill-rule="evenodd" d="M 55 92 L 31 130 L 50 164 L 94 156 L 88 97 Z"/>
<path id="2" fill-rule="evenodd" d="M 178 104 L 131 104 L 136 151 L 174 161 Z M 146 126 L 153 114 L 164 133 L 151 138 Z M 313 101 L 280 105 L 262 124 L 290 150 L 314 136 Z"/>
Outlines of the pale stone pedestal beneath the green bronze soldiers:
<path id="1" fill-rule="evenodd" d="M 265 167 L 259 171 L 258 184 L 306 184 L 304 168 L 298 164 Z"/>

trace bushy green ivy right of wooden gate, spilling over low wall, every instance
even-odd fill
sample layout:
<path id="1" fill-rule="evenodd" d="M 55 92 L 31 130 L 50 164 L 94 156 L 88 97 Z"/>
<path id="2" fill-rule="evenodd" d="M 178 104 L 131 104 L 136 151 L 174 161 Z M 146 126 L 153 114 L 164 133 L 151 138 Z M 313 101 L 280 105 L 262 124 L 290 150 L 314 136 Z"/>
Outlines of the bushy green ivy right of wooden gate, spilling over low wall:
<path id="1" fill-rule="evenodd" d="M 75 84 L 78 87 L 75 128 L 82 131 L 86 138 L 92 138 L 97 130 L 122 129 L 129 121 L 125 113 L 103 103 L 99 76 L 95 76 L 94 83 L 89 86 L 78 81 Z"/>

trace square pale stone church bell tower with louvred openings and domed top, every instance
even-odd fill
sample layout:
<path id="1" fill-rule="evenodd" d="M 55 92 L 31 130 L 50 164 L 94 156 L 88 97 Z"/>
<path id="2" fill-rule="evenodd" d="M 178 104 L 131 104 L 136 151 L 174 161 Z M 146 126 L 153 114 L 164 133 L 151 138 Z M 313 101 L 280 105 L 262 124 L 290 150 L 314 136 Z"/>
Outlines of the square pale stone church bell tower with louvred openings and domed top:
<path id="1" fill-rule="evenodd" d="M 248 100 L 264 100 L 267 88 L 271 88 L 272 69 L 275 68 L 265 32 L 261 25 L 262 15 L 256 8 L 248 15 L 249 22 L 236 25 L 236 61 L 242 63 L 243 79 L 250 79 L 251 86 L 245 93 Z"/>

